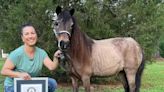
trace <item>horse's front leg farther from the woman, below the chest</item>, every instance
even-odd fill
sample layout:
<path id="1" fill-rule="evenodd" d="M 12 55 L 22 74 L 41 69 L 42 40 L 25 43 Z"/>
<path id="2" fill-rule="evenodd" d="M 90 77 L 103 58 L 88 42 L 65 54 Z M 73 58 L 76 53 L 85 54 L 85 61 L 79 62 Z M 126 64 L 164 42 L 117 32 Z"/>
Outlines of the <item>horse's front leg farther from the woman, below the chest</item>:
<path id="1" fill-rule="evenodd" d="M 83 86 L 85 88 L 85 92 L 90 92 L 90 76 L 84 75 L 82 76 Z"/>

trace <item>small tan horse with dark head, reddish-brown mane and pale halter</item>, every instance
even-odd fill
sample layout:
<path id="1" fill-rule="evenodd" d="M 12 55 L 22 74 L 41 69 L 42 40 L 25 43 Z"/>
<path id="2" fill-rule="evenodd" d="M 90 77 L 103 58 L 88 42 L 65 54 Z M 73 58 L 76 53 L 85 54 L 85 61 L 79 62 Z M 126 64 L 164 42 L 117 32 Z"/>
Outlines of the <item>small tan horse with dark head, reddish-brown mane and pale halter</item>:
<path id="1" fill-rule="evenodd" d="M 78 92 L 78 80 L 82 81 L 85 92 L 90 92 L 91 76 L 114 74 L 122 77 L 125 92 L 139 92 L 144 60 L 133 38 L 94 40 L 79 30 L 74 9 L 62 11 L 58 6 L 56 14 L 53 31 L 59 49 L 68 58 L 73 92 Z"/>

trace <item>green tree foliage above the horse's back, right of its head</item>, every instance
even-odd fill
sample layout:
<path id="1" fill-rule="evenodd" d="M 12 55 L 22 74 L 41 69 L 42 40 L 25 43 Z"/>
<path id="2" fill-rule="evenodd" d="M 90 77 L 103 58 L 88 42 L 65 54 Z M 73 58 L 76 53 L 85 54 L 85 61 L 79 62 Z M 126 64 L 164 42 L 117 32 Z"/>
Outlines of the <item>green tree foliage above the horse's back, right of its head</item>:
<path id="1" fill-rule="evenodd" d="M 150 60 L 159 47 L 163 30 L 161 4 L 160 0 L 86 1 L 76 15 L 81 29 L 91 37 L 133 37 Z"/>

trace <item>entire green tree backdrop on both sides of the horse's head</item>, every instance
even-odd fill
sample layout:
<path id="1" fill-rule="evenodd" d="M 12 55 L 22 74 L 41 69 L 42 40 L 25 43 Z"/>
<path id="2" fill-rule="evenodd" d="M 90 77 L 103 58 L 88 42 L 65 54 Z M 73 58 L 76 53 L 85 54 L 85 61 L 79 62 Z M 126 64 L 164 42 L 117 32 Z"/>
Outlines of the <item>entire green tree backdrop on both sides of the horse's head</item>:
<path id="1" fill-rule="evenodd" d="M 162 0 L 1 0 L 0 47 L 9 52 L 20 46 L 19 27 L 30 22 L 38 30 L 38 46 L 52 57 L 57 45 L 46 11 L 57 5 L 75 8 L 81 30 L 94 39 L 132 37 L 147 60 L 164 51 Z"/>

